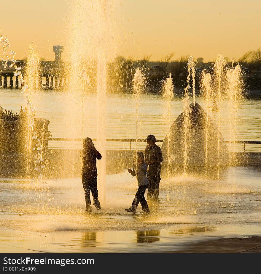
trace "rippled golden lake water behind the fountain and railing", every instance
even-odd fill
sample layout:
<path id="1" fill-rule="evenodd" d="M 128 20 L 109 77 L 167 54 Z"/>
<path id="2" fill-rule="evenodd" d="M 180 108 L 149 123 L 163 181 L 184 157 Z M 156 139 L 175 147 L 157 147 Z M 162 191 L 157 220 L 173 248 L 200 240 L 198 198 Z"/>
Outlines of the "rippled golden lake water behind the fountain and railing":
<path id="1" fill-rule="evenodd" d="M 83 136 L 97 137 L 97 109 L 96 96 L 85 95 Z M 203 99 L 196 101 L 206 110 Z M 192 102 L 192 101 L 191 101 Z M 53 138 L 81 138 L 82 110 L 81 102 L 72 101 L 68 94 L 57 91 L 35 91 L 32 103 L 36 109 L 36 117 L 50 120 L 49 130 Z M 0 106 L 3 109 L 20 111 L 26 101 L 17 90 L 1 89 Z M 107 96 L 106 109 L 106 138 L 125 139 L 136 138 L 136 102 L 130 94 L 116 94 Z M 182 97 L 175 96 L 170 102 L 171 117 L 168 117 L 168 101 L 161 95 L 144 94 L 139 98 L 137 138 L 145 139 L 154 134 L 157 139 L 164 139 L 169 126 L 183 111 Z M 217 122 L 218 113 L 208 112 Z M 79 116 L 69 126 L 71 116 Z M 225 140 L 229 140 L 229 111 L 226 101 L 222 101 L 220 112 L 221 133 Z M 170 122 L 169 122 L 170 121 Z M 170 125 L 169 125 L 170 123 Z M 261 100 L 244 99 L 238 110 L 236 139 L 239 141 L 260 141 L 261 136 Z M 72 146 L 67 142 L 49 142 L 50 148 L 64 148 Z M 80 144 L 74 147 L 80 147 Z M 128 149 L 128 143 L 108 143 L 108 148 Z M 134 146 L 134 145 L 133 145 Z M 242 150 L 242 145 L 238 149 Z M 249 151 L 258 150 L 258 145 L 246 145 Z"/>

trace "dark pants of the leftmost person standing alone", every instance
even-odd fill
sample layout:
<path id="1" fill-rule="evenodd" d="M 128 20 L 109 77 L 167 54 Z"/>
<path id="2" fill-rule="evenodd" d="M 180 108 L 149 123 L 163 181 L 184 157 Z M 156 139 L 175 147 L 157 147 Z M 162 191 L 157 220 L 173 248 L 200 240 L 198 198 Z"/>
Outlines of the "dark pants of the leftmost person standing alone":
<path id="1" fill-rule="evenodd" d="M 93 203 L 98 202 L 98 189 L 97 189 L 97 176 L 90 176 L 88 174 L 82 174 L 82 186 L 84 189 L 86 208 L 90 207 L 90 191 L 93 195 Z"/>

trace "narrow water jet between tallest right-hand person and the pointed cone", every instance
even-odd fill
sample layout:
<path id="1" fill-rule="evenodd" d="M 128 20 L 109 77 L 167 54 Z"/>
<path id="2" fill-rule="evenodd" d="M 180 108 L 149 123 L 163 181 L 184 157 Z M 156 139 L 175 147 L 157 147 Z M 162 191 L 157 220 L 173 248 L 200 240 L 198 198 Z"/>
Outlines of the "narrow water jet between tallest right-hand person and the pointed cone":
<path id="1" fill-rule="evenodd" d="M 170 127 L 171 127 L 171 99 L 174 97 L 174 85 L 171 78 L 171 74 L 165 80 L 163 84 L 163 97 L 166 99 L 167 102 L 167 123 L 168 123 L 168 156 L 167 156 L 167 174 L 169 176 L 170 172 Z"/>

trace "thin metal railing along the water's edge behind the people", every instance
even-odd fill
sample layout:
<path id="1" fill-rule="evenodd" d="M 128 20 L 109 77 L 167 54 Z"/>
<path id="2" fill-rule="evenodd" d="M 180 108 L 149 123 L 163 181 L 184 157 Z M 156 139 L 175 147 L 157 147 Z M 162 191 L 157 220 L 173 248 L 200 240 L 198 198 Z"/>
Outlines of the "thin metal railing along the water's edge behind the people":
<path id="1" fill-rule="evenodd" d="M 97 141 L 97 139 L 92 139 L 94 142 Z M 49 141 L 83 141 L 81 138 L 49 138 Z M 131 150 L 131 143 L 136 142 L 147 142 L 146 139 L 106 139 L 107 142 L 128 142 L 130 143 L 129 150 Z M 163 139 L 157 139 L 156 143 L 162 143 Z M 225 141 L 226 144 L 244 144 L 244 152 L 246 152 L 246 144 L 261 144 L 261 141 Z"/>

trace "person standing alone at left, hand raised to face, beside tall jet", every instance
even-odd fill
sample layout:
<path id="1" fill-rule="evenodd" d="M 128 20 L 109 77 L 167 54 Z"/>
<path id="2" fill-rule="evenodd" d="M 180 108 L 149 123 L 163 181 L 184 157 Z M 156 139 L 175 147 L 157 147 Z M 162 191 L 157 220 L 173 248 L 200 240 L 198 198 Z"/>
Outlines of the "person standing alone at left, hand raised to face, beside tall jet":
<path id="1" fill-rule="evenodd" d="M 90 191 L 93 195 L 93 205 L 97 209 L 101 209 L 98 200 L 96 159 L 101 159 L 100 152 L 94 147 L 91 138 L 85 138 L 82 152 L 82 186 L 85 195 L 86 213 L 92 212 Z"/>

